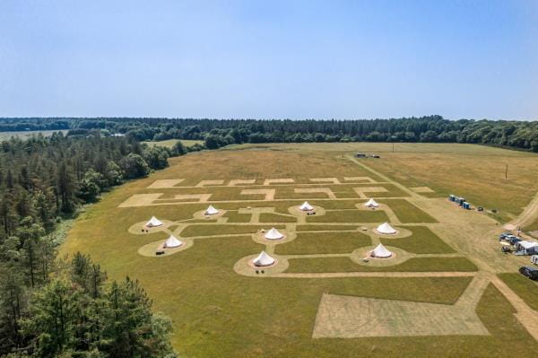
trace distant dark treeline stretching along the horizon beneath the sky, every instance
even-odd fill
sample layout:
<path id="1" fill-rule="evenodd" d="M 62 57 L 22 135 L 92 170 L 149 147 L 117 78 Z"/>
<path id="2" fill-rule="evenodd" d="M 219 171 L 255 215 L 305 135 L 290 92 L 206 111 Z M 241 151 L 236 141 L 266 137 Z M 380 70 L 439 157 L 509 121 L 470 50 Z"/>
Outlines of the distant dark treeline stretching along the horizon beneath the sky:
<path id="1" fill-rule="evenodd" d="M 16 121 L 14 118 L 0 119 Z M 29 123 L 31 118 L 19 119 Z M 37 120 L 37 119 L 36 119 Z M 71 135 L 100 129 L 139 141 L 200 139 L 209 149 L 226 144 L 274 142 L 429 142 L 493 144 L 538 152 L 538 122 L 447 120 L 440 116 L 373 120 L 256 120 L 169 118 L 40 118 L 67 121 Z"/>

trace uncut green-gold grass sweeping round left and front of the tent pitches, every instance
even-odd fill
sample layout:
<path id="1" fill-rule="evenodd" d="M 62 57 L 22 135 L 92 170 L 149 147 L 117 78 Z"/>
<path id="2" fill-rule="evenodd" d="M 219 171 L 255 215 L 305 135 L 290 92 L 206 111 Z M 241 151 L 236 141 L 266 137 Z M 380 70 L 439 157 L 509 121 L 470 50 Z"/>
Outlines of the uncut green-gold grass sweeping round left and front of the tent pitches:
<path id="1" fill-rule="evenodd" d="M 272 172 L 273 178 L 293 178 L 299 169 L 302 175 L 311 177 L 324 177 L 325 171 L 364 176 L 360 168 L 332 154 L 256 150 L 193 153 L 176 158 L 168 170 L 115 189 L 81 214 L 60 255 L 80 250 L 99 262 L 110 278 L 129 275 L 140 280 L 152 297 L 154 310 L 173 319 L 176 329 L 173 344 L 181 356 L 414 357 L 428 356 L 431 352 L 531 356 L 534 341 L 513 318 L 508 302 L 495 290 L 484 295 L 477 310 L 493 336 L 312 339 L 322 293 L 452 304 L 470 278 L 247 277 L 236 274 L 233 265 L 239 258 L 264 249 L 249 236 L 195 240 L 191 248 L 175 255 L 142 257 L 137 253 L 140 247 L 164 240 L 167 234 L 134 235 L 127 231 L 131 225 L 146 221 L 153 214 L 166 220 L 186 220 L 207 205 L 117 207 L 127 197 L 143 192 L 155 179 L 191 178 L 191 175 L 194 182 L 213 178 L 265 178 L 273 168 L 276 171 L 276 174 Z"/>

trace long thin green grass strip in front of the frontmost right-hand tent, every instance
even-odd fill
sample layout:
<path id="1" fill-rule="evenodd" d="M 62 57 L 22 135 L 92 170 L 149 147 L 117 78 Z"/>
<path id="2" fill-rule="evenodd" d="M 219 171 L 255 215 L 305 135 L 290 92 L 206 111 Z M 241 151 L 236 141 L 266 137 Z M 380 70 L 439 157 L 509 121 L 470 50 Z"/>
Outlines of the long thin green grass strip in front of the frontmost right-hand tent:
<path id="1" fill-rule="evenodd" d="M 321 272 L 443 272 L 476 271 L 467 258 L 410 258 L 395 266 L 365 266 L 355 264 L 351 258 L 290 258 L 287 273 Z M 368 264 L 367 264 L 368 265 Z"/>

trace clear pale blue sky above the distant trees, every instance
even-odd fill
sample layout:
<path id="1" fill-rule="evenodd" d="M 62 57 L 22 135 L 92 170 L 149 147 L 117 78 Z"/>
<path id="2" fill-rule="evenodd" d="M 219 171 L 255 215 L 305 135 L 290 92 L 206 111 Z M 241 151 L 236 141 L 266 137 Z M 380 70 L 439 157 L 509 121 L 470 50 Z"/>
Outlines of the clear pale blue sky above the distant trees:
<path id="1" fill-rule="evenodd" d="M 0 1 L 0 116 L 538 119 L 538 1 Z"/>

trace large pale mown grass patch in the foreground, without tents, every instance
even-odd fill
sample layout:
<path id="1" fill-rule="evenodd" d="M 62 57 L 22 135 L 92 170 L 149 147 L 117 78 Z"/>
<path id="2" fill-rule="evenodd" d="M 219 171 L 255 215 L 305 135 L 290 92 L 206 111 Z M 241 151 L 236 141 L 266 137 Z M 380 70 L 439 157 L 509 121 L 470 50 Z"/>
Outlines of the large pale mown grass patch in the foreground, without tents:
<path id="1" fill-rule="evenodd" d="M 474 278 L 455 305 L 324 294 L 312 337 L 489 336 L 475 312 L 488 283 Z"/>

